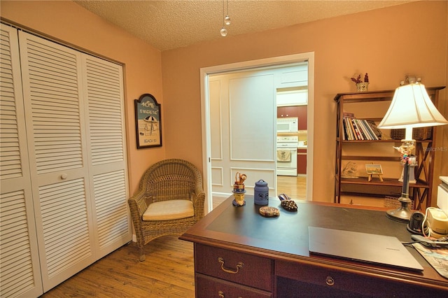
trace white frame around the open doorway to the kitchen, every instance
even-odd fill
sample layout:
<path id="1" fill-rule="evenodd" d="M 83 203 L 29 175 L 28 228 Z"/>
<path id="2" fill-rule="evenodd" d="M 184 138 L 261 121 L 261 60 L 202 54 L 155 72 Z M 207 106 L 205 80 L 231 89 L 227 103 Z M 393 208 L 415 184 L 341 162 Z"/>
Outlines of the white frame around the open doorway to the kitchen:
<path id="1" fill-rule="evenodd" d="M 210 99 L 209 99 L 209 75 L 217 73 L 230 73 L 241 70 L 255 70 L 267 66 L 288 66 L 300 62 L 308 62 L 308 150 L 307 150 L 307 198 L 313 197 L 313 144 L 314 144 L 314 52 L 271 57 L 265 59 L 250 60 L 208 66 L 200 69 L 201 85 L 201 122 L 202 122 L 202 169 L 204 178 L 204 192 L 207 198 L 206 210 L 212 209 L 211 196 L 211 129 L 210 129 Z"/>

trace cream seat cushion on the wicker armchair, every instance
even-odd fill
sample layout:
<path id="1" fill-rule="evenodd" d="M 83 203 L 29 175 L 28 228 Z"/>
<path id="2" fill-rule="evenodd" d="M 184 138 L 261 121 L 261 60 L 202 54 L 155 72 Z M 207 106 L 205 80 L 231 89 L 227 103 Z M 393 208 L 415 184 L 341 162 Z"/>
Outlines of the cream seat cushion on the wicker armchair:
<path id="1" fill-rule="evenodd" d="M 193 202 L 186 199 L 157 201 L 146 208 L 143 220 L 178 220 L 195 215 Z"/>

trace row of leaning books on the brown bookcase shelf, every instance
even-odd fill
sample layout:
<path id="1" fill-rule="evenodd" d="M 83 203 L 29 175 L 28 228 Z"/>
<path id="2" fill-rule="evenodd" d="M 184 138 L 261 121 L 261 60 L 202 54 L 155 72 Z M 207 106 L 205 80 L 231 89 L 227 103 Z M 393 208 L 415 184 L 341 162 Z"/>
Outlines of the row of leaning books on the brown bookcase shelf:
<path id="1" fill-rule="evenodd" d="M 381 131 L 373 120 L 357 119 L 353 113 L 344 113 L 342 121 L 346 141 L 381 140 Z"/>

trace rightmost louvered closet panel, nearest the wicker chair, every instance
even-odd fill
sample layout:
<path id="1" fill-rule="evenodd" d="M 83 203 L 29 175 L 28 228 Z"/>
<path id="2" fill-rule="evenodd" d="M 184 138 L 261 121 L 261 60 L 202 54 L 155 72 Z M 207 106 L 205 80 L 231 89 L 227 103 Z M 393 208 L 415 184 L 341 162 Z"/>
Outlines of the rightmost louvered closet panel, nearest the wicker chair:
<path id="1" fill-rule="evenodd" d="M 132 238 L 127 208 L 123 67 L 90 55 L 82 58 L 94 241 L 100 258 Z"/>

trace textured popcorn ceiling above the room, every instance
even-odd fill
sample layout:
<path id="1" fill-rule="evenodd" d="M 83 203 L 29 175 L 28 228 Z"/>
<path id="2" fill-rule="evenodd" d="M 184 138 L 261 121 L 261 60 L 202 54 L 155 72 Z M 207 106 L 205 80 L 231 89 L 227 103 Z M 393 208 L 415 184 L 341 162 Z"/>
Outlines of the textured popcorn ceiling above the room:
<path id="1" fill-rule="evenodd" d="M 318 0 L 73 0 L 159 50 L 181 48 L 220 35 L 227 6 L 228 36 L 265 31 L 337 15 L 398 5 L 411 1 Z M 225 10 L 223 12 L 223 10 Z"/>

